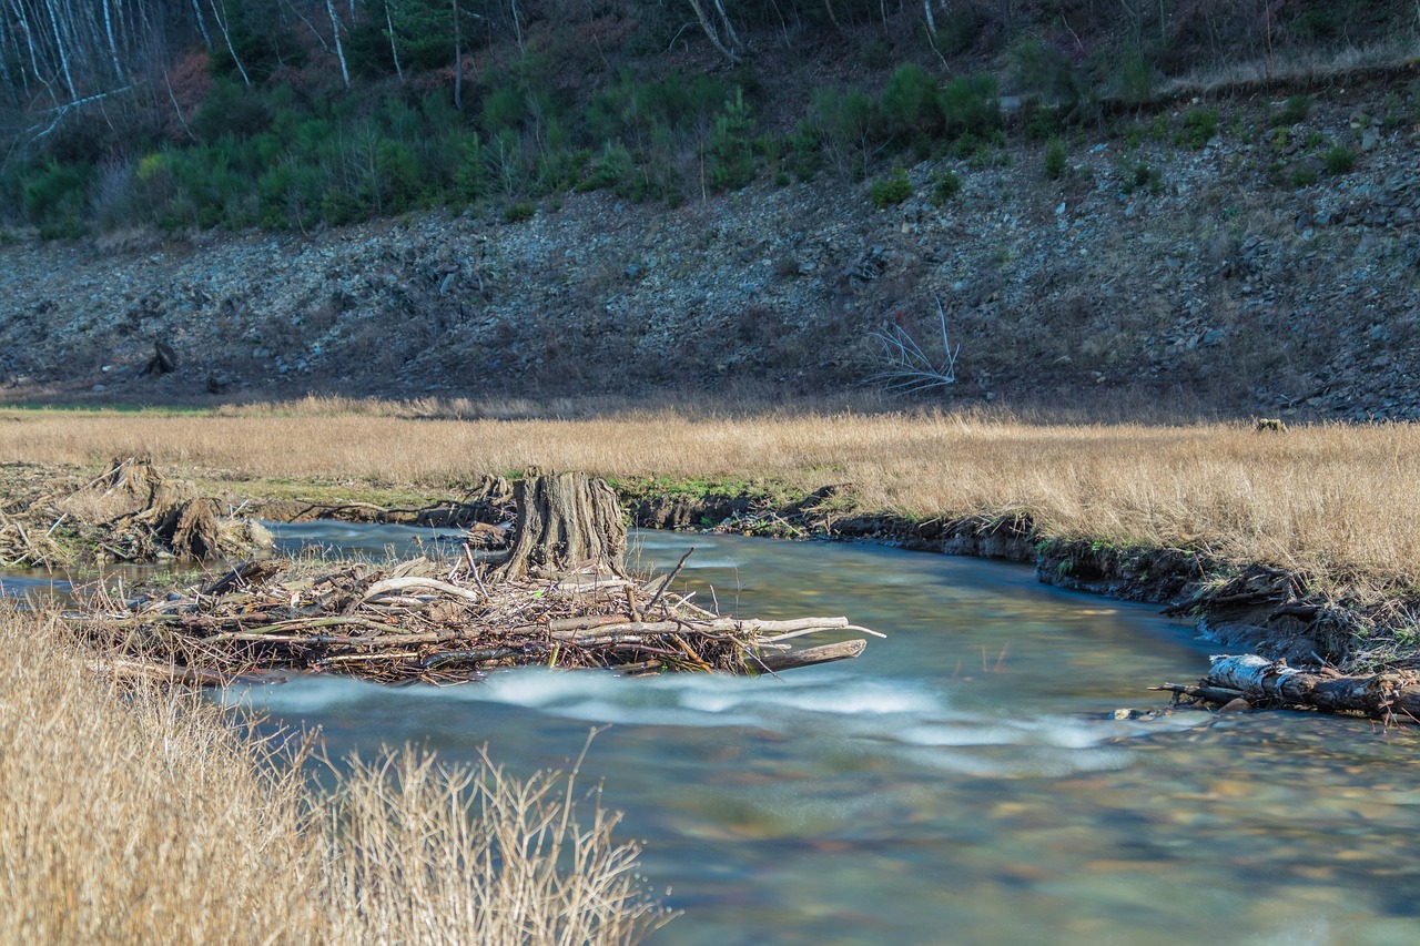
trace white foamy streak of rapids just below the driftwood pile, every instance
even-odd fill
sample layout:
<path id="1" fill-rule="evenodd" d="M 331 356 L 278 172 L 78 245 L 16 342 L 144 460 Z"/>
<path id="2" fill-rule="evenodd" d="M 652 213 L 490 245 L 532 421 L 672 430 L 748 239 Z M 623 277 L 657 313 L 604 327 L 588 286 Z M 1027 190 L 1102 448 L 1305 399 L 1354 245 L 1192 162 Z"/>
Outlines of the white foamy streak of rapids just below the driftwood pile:
<path id="1" fill-rule="evenodd" d="M 383 687 L 339 678 L 298 678 L 280 687 L 233 690 L 271 712 L 320 716 L 365 700 L 497 703 L 559 719 L 655 727 L 744 727 L 815 737 L 868 739 L 910 754 L 934 751 L 930 764 L 981 774 L 1081 771 L 1122 764 L 1105 743 L 1183 729 L 1197 722 L 1149 723 L 1068 716 L 1000 717 L 956 710 L 939 686 L 836 673 L 799 678 L 663 675 L 619 678 L 591 670 L 524 668 L 456 687 Z M 1207 717 L 1200 717 L 1206 720 Z M 1007 757 L 993 747 L 1020 747 Z"/>

